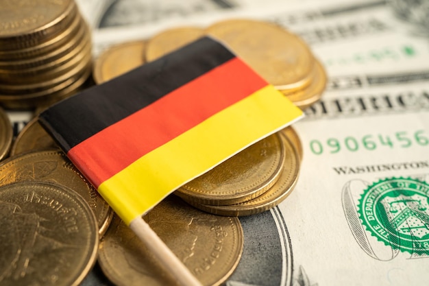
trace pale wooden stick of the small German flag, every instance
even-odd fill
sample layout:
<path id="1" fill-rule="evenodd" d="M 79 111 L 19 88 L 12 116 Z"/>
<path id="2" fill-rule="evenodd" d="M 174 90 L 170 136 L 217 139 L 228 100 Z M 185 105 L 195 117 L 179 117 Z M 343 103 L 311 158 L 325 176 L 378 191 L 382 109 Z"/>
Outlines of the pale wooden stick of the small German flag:
<path id="1" fill-rule="evenodd" d="M 165 245 L 142 217 L 133 219 L 130 228 L 145 243 L 166 270 L 182 286 L 202 286 L 188 268 Z"/>

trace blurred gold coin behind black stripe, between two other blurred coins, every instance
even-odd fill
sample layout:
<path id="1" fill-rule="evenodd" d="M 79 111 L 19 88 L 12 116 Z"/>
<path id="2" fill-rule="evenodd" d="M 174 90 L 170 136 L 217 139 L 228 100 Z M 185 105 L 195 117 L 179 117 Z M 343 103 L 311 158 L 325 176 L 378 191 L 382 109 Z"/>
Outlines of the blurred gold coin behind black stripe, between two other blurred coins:
<path id="1" fill-rule="evenodd" d="M 179 27 L 161 32 L 148 40 L 146 60 L 148 62 L 156 60 L 175 49 L 179 49 L 197 40 L 197 38 L 201 38 L 204 34 L 204 29 L 197 27 Z"/>

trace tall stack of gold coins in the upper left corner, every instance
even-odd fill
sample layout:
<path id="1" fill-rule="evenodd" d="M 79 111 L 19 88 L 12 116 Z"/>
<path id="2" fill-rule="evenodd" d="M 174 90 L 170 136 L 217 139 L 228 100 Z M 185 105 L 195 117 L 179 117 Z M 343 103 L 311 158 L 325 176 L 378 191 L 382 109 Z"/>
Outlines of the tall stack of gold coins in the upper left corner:
<path id="1" fill-rule="evenodd" d="M 90 30 L 73 0 L 2 1 L 0 19 L 0 105 L 51 104 L 86 81 Z"/>

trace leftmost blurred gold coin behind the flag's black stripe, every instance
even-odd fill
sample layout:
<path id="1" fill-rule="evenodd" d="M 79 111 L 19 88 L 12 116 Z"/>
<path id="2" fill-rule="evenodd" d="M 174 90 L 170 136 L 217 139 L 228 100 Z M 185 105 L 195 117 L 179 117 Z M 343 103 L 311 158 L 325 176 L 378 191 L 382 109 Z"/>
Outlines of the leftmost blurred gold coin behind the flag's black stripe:
<path id="1" fill-rule="evenodd" d="M 102 84 L 144 64 L 145 47 L 143 40 L 136 40 L 115 45 L 101 53 L 93 67 L 95 83 Z"/>

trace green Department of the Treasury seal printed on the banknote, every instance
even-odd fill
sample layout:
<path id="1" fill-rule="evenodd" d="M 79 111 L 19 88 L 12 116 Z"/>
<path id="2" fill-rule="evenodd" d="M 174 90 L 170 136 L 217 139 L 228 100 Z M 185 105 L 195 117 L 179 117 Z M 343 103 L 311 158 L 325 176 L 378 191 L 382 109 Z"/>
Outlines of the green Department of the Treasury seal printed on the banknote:
<path id="1" fill-rule="evenodd" d="M 429 184 L 390 178 L 370 185 L 358 202 L 363 225 L 385 245 L 429 254 Z"/>

